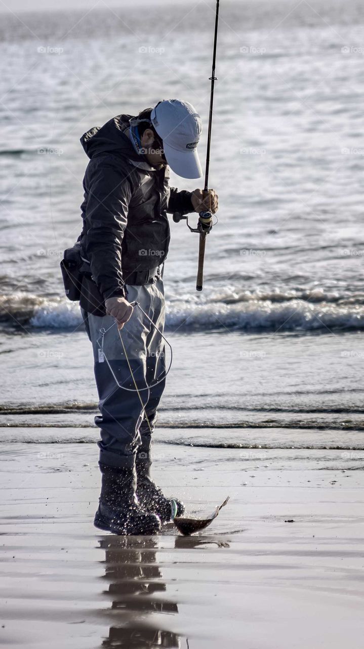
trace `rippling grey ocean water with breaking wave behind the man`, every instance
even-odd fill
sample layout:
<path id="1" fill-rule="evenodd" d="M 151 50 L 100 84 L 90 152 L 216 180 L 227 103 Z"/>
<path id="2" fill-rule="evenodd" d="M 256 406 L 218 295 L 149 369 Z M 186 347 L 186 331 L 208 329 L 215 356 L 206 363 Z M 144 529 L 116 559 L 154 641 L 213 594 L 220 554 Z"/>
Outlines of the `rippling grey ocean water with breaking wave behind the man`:
<path id="1" fill-rule="evenodd" d="M 201 114 L 204 160 L 213 9 L 149 3 L 142 24 L 129 5 L 2 16 L 3 439 L 95 438 L 91 349 L 59 271 L 81 228 L 79 139 L 177 97 Z M 175 360 L 159 439 L 190 445 L 198 428 L 204 445 L 361 448 L 361 4 L 224 1 L 219 29 L 210 186 L 220 210 L 201 294 L 198 238 L 171 219 Z"/>

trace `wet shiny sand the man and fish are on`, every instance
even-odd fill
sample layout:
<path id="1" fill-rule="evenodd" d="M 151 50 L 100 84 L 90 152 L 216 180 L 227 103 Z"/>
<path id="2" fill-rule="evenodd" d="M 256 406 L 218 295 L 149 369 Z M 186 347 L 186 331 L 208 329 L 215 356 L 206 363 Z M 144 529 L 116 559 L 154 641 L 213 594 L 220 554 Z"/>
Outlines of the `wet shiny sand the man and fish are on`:
<path id="1" fill-rule="evenodd" d="M 188 510 L 231 496 L 206 533 L 185 538 L 93 528 L 94 444 L 1 447 L 4 646 L 363 646 L 364 477 L 342 468 L 341 451 L 300 463 L 277 449 L 262 460 L 156 445 L 155 478 Z"/>

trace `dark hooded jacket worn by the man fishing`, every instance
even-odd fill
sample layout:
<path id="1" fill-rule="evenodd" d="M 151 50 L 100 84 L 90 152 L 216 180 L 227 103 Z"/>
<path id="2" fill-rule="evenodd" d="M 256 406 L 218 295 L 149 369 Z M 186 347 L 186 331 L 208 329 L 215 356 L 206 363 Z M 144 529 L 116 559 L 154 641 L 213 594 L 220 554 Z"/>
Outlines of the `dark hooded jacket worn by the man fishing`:
<path id="1" fill-rule="evenodd" d="M 119 115 L 81 138 L 90 162 L 80 243 L 104 300 L 123 295 L 135 271 L 165 261 L 170 240 L 167 212 L 193 212 L 191 193 L 168 186 L 168 167 L 154 169 L 135 151 L 124 132 L 131 119 Z"/>

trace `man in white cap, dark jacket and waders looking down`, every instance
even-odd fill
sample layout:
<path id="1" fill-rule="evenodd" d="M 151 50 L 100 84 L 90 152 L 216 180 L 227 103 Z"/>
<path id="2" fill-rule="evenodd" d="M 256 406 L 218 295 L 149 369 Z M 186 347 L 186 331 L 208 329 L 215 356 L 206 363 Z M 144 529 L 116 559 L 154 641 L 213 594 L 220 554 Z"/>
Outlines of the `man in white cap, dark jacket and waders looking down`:
<path id="1" fill-rule="evenodd" d="M 166 213 L 218 209 L 214 190 L 168 186 L 168 167 L 183 178 L 201 177 L 200 134 L 194 107 L 171 99 L 137 117 L 114 117 L 81 138 L 90 162 L 81 206 L 80 306 L 100 399 L 95 423 L 102 486 L 95 526 L 115 534 L 153 534 L 184 511 L 152 480 L 150 447 L 165 388 Z"/>

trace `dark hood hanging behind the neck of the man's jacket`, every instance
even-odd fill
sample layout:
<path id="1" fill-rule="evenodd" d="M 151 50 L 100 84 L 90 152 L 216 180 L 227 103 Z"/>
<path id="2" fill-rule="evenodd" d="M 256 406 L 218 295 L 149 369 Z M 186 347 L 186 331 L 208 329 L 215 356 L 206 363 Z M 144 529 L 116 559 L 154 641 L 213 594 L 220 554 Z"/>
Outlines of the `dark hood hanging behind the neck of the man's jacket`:
<path id="1" fill-rule="evenodd" d="M 144 156 L 135 151 L 128 134 L 124 133 L 124 130 L 130 127 L 130 119 L 133 119 L 132 115 L 118 115 L 104 126 L 95 126 L 84 133 L 80 142 L 87 156 L 95 158 L 102 153 L 115 153 L 123 158 L 141 162 Z"/>

